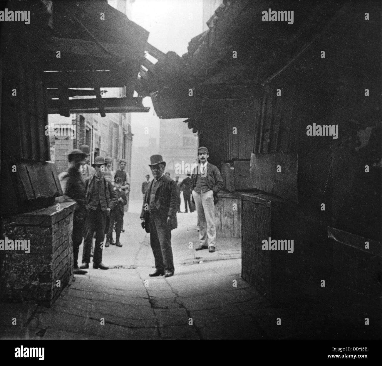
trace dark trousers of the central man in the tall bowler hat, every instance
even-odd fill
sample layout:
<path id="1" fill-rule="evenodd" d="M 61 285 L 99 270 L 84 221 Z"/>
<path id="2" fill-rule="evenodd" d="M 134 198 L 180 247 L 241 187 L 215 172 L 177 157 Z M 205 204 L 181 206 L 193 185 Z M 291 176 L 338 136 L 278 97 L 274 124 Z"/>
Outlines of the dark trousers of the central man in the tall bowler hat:
<path id="1" fill-rule="evenodd" d="M 168 269 L 174 273 L 171 227 L 167 224 L 167 217 L 158 213 L 150 213 L 150 245 L 154 254 L 155 268 L 159 271 Z"/>

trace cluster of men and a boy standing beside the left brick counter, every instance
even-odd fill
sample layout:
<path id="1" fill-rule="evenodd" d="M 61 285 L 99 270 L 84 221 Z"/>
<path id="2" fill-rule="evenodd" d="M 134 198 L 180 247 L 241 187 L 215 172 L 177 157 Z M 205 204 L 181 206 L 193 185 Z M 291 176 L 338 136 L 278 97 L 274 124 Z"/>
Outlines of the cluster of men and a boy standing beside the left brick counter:
<path id="1" fill-rule="evenodd" d="M 93 268 L 108 269 L 102 263 L 102 250 L 110 244 L 122 247 L 120 234 L 123 230 L 124 206 L 128 203 L 129 176 L 125 172 L 127 161 L 120 160 L 119 169 L 111 170 L 112 159 L 97 156 L 89 165 L 90 148 L 80 146 L 68 155 L 69 168 L 58 178 L 64 195 L 57 202 L 77 203 L 73 218 L 73 266 L 75 274 L 85 274 L 93 256 Z M 112 233 L 115 224 L 116 241 Z M 95 244 L 92 249 L 93 236 Z M 105 234 L 107 235 L 104 243 Z M 79 246 L 84 239 L 82 265 L 78 267 Z"/>

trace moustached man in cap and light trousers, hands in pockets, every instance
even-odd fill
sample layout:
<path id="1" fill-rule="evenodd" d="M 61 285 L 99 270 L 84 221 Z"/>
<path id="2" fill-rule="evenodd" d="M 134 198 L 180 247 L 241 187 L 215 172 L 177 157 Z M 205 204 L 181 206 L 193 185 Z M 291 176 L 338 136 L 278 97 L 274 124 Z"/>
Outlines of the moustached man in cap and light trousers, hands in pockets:
<path id="1" fill-rule="evenodd" d="M 200 245 L 196 250 L 208 248 L 208 251 L 213 253 L 216 248 L 215 203 L 217 203 L 217 196 L 215 195 L 223 188 L 224 183 L 219 169 L 207 161 L 208 149 L 204 146 L 199 147 L 197 155 L 200 165 L 196 166 L 191 177 L 192 195 L 199 224 Z"/>

